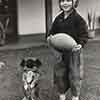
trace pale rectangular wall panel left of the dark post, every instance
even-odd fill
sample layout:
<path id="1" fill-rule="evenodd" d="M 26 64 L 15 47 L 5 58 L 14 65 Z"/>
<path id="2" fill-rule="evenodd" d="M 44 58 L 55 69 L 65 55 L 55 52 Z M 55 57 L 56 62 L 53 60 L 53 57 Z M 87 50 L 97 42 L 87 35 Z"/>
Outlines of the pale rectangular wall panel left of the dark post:
<path id="1" fill-rule="evenodd" d="M 44 0 L 18 0 L 18 32 L 21 35 L 45 32 Z"/>

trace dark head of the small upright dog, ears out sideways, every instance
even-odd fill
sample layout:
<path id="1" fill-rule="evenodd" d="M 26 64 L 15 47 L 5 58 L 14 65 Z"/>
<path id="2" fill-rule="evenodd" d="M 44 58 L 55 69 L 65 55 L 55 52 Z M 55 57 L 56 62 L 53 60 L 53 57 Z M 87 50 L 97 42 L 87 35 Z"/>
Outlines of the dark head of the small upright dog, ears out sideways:
<path id="1" fill-rule="evenodd" d="M 20 66 L 21 67 L 27 67 L 27 68 L 39 68 L 42 65 L 41 61 L 38 58 L 34 57 L 28 57 L 21 61 Z"/>

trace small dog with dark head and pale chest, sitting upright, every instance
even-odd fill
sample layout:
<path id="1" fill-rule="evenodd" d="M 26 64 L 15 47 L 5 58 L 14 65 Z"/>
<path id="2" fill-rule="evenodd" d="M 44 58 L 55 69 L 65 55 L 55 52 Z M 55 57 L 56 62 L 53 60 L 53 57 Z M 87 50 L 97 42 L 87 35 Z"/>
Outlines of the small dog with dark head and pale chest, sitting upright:
<path id="1" fill-rule="evenodd" d="M 39 97 L 39 70 L 42 65 L 38 58 L 28 57 L 21 61 L 20 66 L 23 68 L 22 81 L 24 89 L 24 98 L 22 100 L 35 100 Z"/>

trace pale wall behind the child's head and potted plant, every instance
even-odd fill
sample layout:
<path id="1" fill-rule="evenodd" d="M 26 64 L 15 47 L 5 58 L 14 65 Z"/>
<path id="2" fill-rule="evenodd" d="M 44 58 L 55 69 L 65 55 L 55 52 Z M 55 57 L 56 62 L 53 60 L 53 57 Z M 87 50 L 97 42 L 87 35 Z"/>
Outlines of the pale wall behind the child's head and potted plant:
<path id="1" fill-rule="evenodd" d="M 100 0 L 80 0 L 79 6 L 78 6 L 78 12 L 84 17 L 84 19 L 87 21 L 87 12 L 92 10 L 96 14 L 96 18 L 100 16 Z M 59 12 L 58 8 L 58 0 L 53 0 L 53 19 L 54 16 Z M 96 20 L 96 28 L 100 28 L 98 26 L 98 22 Z"/>

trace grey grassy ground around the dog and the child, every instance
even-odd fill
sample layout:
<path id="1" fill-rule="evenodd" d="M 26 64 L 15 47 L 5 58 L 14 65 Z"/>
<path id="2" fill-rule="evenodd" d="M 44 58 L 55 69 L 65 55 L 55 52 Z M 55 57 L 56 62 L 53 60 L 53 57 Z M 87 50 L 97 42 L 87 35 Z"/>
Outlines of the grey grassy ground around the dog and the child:
<path id="1" fill-rule="evenodd" d="M 84 80 L 81 100 L 100 100 L 100 41 L 89 41 L 84 49 Z M 21 100 L 23 97 L 20 62 L 24 57 L 34 56 L 42 61 L 40 98 L 57 100 L 53 85 L 53 67 L 56 59 L 47 46 L 0 51 L 0 100 Z M 54 95 L 55 94 L 55 95 Z"/>

